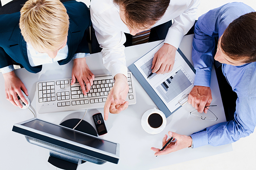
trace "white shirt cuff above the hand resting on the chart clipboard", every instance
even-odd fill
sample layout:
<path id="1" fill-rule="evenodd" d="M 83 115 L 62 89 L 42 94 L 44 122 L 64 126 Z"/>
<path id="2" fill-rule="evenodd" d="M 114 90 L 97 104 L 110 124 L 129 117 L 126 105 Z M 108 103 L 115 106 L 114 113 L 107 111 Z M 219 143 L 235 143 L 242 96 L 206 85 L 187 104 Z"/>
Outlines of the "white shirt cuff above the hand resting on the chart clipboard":
<path id="1" fill-rule="evenodd" d="M 183 36 L 184 35 L 181 32 L 170 28 L 166 35 L 165 43 L 170 44 L 178 49 Z"/>

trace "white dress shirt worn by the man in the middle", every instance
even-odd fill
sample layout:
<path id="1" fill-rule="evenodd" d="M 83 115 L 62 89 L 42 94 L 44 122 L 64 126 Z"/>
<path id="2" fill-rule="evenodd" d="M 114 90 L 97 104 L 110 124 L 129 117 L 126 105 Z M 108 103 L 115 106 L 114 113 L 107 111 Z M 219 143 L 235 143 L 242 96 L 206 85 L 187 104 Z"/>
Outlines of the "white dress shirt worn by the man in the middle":
<path id="1" fill-rule="evenodd" d="M 183 36 L 194 25 L 200 0 L 171 0 L 164 16 L 153 27 L 173 19 L 173 24 L 165 38 L 165 43 L 178 49 Z M 124 33 L 129 29 L 120 19 L 119 6 L 113 0 L 91 1 L 91 20 L 97 40 L 103 48 L 103 64 L 114 77 L 117 73 L 127 76 L 124 54 Z M 152 27 L 152 28 L 153 28 Z"/>

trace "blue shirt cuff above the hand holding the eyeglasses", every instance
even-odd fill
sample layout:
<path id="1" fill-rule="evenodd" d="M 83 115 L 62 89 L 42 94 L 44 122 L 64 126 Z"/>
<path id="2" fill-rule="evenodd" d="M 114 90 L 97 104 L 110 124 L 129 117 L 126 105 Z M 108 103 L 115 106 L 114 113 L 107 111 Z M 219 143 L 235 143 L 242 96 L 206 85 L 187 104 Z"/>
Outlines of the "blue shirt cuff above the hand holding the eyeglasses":
<path id="1" fill-rule="evenodd" d="M 194 85 L 210 87 L 211 72 L 204 71 L 204 70 L 197 70 L 194 78 Z"/>

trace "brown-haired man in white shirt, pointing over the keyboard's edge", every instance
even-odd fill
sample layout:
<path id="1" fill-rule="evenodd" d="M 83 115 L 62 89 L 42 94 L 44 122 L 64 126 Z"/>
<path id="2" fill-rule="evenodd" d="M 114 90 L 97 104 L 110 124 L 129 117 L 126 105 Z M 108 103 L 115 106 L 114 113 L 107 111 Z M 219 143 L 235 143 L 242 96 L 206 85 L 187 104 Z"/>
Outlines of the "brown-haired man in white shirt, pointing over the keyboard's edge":
<path id="1" fill-rule="evenodd" d="M 92 0 L 91 20 L 102 48 L 104 66 L 112 73 L 115 84 L 105 107 L 108 113 L 120 113 L 128 107 L 127 67 L 124 33 L 136 35 L 173 19 L 165 44 L 155 54 L 152 72 L 164 74 L 172 70 L 175 52 L 183 36 L 194 25 L 200 0 Z M 151 35 L 149 35 L 150 37 Z"/>

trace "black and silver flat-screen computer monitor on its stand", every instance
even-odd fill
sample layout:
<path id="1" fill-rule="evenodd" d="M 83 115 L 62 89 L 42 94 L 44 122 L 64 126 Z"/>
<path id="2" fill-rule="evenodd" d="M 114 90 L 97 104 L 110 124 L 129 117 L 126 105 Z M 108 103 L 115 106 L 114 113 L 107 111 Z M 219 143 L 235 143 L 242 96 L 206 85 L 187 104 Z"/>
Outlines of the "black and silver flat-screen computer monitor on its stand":
<path id="1" fill-rule="evenodd" d="M 29 143 L 50 150 L 50 158 L 60 162 L 59 168 L 70 169 L 84 161 L 118 164 L 120 144 L 65 126 L 33 118 L 13 125 L 13 131 L 25 135 Z"/>

